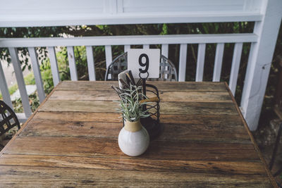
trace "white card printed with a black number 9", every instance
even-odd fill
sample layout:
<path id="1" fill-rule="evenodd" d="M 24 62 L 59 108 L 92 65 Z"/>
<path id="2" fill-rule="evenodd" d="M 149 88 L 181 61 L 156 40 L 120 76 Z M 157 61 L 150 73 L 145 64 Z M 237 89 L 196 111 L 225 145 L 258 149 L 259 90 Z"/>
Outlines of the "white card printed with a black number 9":
<path id="1" fill-rule="evenodd" d="M 128 70 L 131 70 L 134 78 L 159 77 L 160 49 L 128 49 Z M 148 77 L 148 78 L 149 78 Z"/>

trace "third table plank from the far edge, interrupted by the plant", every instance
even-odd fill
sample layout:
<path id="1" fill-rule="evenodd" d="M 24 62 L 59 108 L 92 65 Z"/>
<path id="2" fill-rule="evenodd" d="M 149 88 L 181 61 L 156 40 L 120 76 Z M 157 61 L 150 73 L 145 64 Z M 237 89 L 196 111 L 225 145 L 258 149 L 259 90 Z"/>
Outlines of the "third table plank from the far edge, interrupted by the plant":
<path id="1" fill-rule="evenodd" d="M 118 104 L 114 101 L 64 101 L 50 100 L 39 111 L 74 111 L 114 113 Z M 235 115 L 235 106 L 231 103 L 200 103 L 200 102 L 162 102 L 161 114 L 226 114 Z"/>

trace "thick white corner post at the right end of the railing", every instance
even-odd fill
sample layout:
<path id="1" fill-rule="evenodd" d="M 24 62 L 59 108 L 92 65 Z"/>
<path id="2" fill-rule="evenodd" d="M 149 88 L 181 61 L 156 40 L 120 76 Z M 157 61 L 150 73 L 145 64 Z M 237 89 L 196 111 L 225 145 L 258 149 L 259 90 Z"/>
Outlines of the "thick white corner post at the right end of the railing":
<path id="1" fill-rule="evenodd" d="M 252 43 L 250 49 L 241 99 L 241 109 L 250 130 L 256 130 L 259 122 L 271 61 L 281 24 L 282 1 L 263 1 L 261 13 L 264 17 L 262 21 L 255 23 L 254 33 L 259 38 L 257 42 Z"/>

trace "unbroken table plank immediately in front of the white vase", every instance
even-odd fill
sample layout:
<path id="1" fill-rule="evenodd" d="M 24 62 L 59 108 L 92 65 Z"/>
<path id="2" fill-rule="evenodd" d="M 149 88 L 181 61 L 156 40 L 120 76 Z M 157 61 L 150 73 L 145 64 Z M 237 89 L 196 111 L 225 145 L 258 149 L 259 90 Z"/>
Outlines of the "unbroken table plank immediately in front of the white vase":
<path id="1" fill-rule="evenodd" d="M 88 168 L 108 170 L 137 170 L 137 171 L 166 171 L 181 173 L 210 173 L 229 175 L 262 175 L 265 169 L 261 161 L 165 161 L 142 158 L 99 158 L 80 156 L 37 156 L 4 154 L 0 165 L 21 165 L 59 167 L 59 168 Z"/>

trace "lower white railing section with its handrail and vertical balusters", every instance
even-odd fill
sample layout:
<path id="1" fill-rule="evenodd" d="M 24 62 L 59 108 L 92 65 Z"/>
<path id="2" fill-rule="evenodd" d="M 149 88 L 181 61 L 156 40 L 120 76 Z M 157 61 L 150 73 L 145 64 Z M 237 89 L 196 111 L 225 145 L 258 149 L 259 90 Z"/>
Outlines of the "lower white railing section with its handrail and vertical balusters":
<path id="1" fill-rule="evenodd" d="M 90 80 L 96 80 L 94 71 L 94 57 L 93 46 L 105 46 L 106 67 L 112 61 L 111 46 L 123 45 L 124 51 L 130 49 L 130 45 L 142 44 L 144 48 L 149 48 L 149 44 L 161 44 L 161 54 L 168 56 L 168 44 L 180 44 L 179 54 L 179 69 L 178 80 L 185 81 L 185 70 L 187 61 L 187 45 L 199 44 L 198 46 L 198 58 L 197 58 L 197 70 L 196 70 L 196 82 L 201 82 L 204 73 L 204 56 L 205 46 L 207 43 L 218 43 L 216 47 L 215 66 L 213 82 L 219 82 L 221 76 L 221 65 L 223 57 L 223 47 L 225 43 L 235 43 L 233 63 L 231 68 L 231 77 L 229 81 L 229 87 L 233 94 L 235 94 L 235 88 L 237 84 L 238 70 L 240 65 L 240 57 L 242 52 L 243 42 L 257 42 L 258 36 L 252 33 L 247 34 L 221 34 L 221 35 L 149 35 L 149 36 L 116 36 L 116 37 L 75 37 L 75 38 L 20 38 L 20 39 L 0 39 L 0 47 L 8 48 L 11 54 L 11 60 L 16 73 L 16 79 L 18 82 L 21 99 L 23 102 L 23 108 L 25 111 L 25 117 L 23 120 L 31 115 L 30 104 L 28 102 L 27 91 L 23 81 L 23 74 L 20 70 L 20 62 L 18 59 L 19 47 L 28 47 L 30 59 L 32 62 L 32 69 L 35 75 L 35 82 L 37 85 L 37 92 L 39 100 L 42 102 L 45 98 L 42 78 L 39 70 L 39 63 L 37 61 L 37 52 L 35 47 L 47 46 L 49 60 L 51 64 L 51 72 L 53 75 L 54 85 L 59 84 L 59 69 L 56 61 L 56 46 L 67 46 L 68 51 L 68 63 L 71 73 L 71 80 L 78 80 L 78 73 L 75 66 L 75 55 L 73 46 L 86 46 L 87 51 L 87 65 Z M 4 73 L 0 70 L 0 75 Z M 5 82 L 5 83 L 4 83 Z M 6 85 L 6 81 L 0 80 L 1 85 Z M 3 87 L 4 100 L 11 105 L 11 98 L 7 92 L 8 88 Z M 2 89 L 1 89 L 2 91 Z"/>

